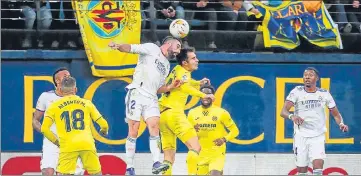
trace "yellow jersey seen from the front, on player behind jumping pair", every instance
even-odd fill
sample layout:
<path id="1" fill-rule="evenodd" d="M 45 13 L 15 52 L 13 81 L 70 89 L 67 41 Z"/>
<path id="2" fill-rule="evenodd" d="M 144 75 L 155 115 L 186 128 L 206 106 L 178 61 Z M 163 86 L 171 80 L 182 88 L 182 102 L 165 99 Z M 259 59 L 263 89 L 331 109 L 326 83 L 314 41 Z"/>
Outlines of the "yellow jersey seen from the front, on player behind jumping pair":
<path id="1" fill-rule="evenodd" d="M 188 113 L 188 120 L 193 126 L 199 125 L 197 135 L 202 150 L 214 148 L 225 150 L 225 144 L 218 147 L 213 141 L 223 137 L 229 141 L 239 134 L 238 127 L 228 111 L 215 105 L 209 108 L 198 106 L 191 109 Z"/>

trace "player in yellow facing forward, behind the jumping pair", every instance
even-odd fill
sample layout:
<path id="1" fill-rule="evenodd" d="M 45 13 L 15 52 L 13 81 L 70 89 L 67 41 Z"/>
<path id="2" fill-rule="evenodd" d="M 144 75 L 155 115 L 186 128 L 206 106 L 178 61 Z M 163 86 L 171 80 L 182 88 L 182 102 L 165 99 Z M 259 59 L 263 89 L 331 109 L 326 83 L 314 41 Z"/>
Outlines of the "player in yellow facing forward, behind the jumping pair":
<path id="1" fill-rule="evenodd" d="M 201 91 L 215 92 L 210 85 L 202 86 Z M 196 129 L 202 147 L 197 175 L 222 175 L 226 142 L 238 136 L 237 125 L 225 109 L 212 105 L 208 98 L 201 99 L 201 105 L 189 111 L 188 120 Z"/>

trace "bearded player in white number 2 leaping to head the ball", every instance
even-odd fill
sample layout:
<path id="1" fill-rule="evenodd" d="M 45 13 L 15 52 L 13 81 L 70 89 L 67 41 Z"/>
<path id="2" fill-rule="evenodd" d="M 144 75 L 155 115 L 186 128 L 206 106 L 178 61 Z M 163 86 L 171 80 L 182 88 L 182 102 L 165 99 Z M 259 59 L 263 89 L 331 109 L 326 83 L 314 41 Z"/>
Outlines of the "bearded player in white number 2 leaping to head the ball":
<path id="1" fill-rule="evenodd" d="M 137 66 L 133 74 L 133 81 L 129 84 L 126 104 L 126 120 L 128 122 L 128 137 L 125 144 L 127 175 L 135 175 L 134 155 L 136 139 L 142 116 L 147 124 L 150 138 L 149 148 L 153 155 L 154 174 L 168 169 L 168 165 L 159 162 L 160 137 L 159 137 L 159 105 L 157 93 L 169 92 L 179 86 L 179 81 L 166 86 L 165 79 L 170 71 L 169 60 L 180 53 L 181 42 L 173 37 L 163 40 L 162 46 L 153 43 L 145 44 L 115 44 L 111 42 L 109 47 L 121 52 L 139 54 Z"/>

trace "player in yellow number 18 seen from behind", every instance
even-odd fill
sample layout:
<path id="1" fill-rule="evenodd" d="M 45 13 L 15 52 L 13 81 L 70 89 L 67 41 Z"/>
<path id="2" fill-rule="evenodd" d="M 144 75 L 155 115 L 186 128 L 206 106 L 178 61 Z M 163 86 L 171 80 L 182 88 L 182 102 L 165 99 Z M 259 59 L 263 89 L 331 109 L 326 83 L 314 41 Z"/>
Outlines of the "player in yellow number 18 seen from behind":
<path id="1" fill-rule="evenodd" d="M 101 166 L 90 129 L 92 120 L 100 126 L 103 135 L 108 133 L 108 123 L 94 104 L 75 95 L 76 81 L 65 77 L 60 88 L 63 98 L 53 102 L 46 110 L 41 132 L 49 141 L 59 146 L 59 174 L 74 174 L 78 157 L 89 174 L 101 175 Z M 55 123 L 59 139 L 50 131 Z"/>

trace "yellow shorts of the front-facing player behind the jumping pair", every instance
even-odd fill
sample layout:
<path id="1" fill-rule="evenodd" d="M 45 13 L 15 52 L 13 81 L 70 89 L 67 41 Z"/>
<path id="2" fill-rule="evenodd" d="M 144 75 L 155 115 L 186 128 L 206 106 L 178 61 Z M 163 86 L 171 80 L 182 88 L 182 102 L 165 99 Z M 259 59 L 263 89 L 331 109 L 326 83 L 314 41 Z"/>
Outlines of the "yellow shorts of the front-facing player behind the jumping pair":
<path id="1" fill-rule="evenodd" d="M 212 170 L 223 172 L 226 155 L 223 151 L 201 150 L 197 175 L 210 175 Z"/>

